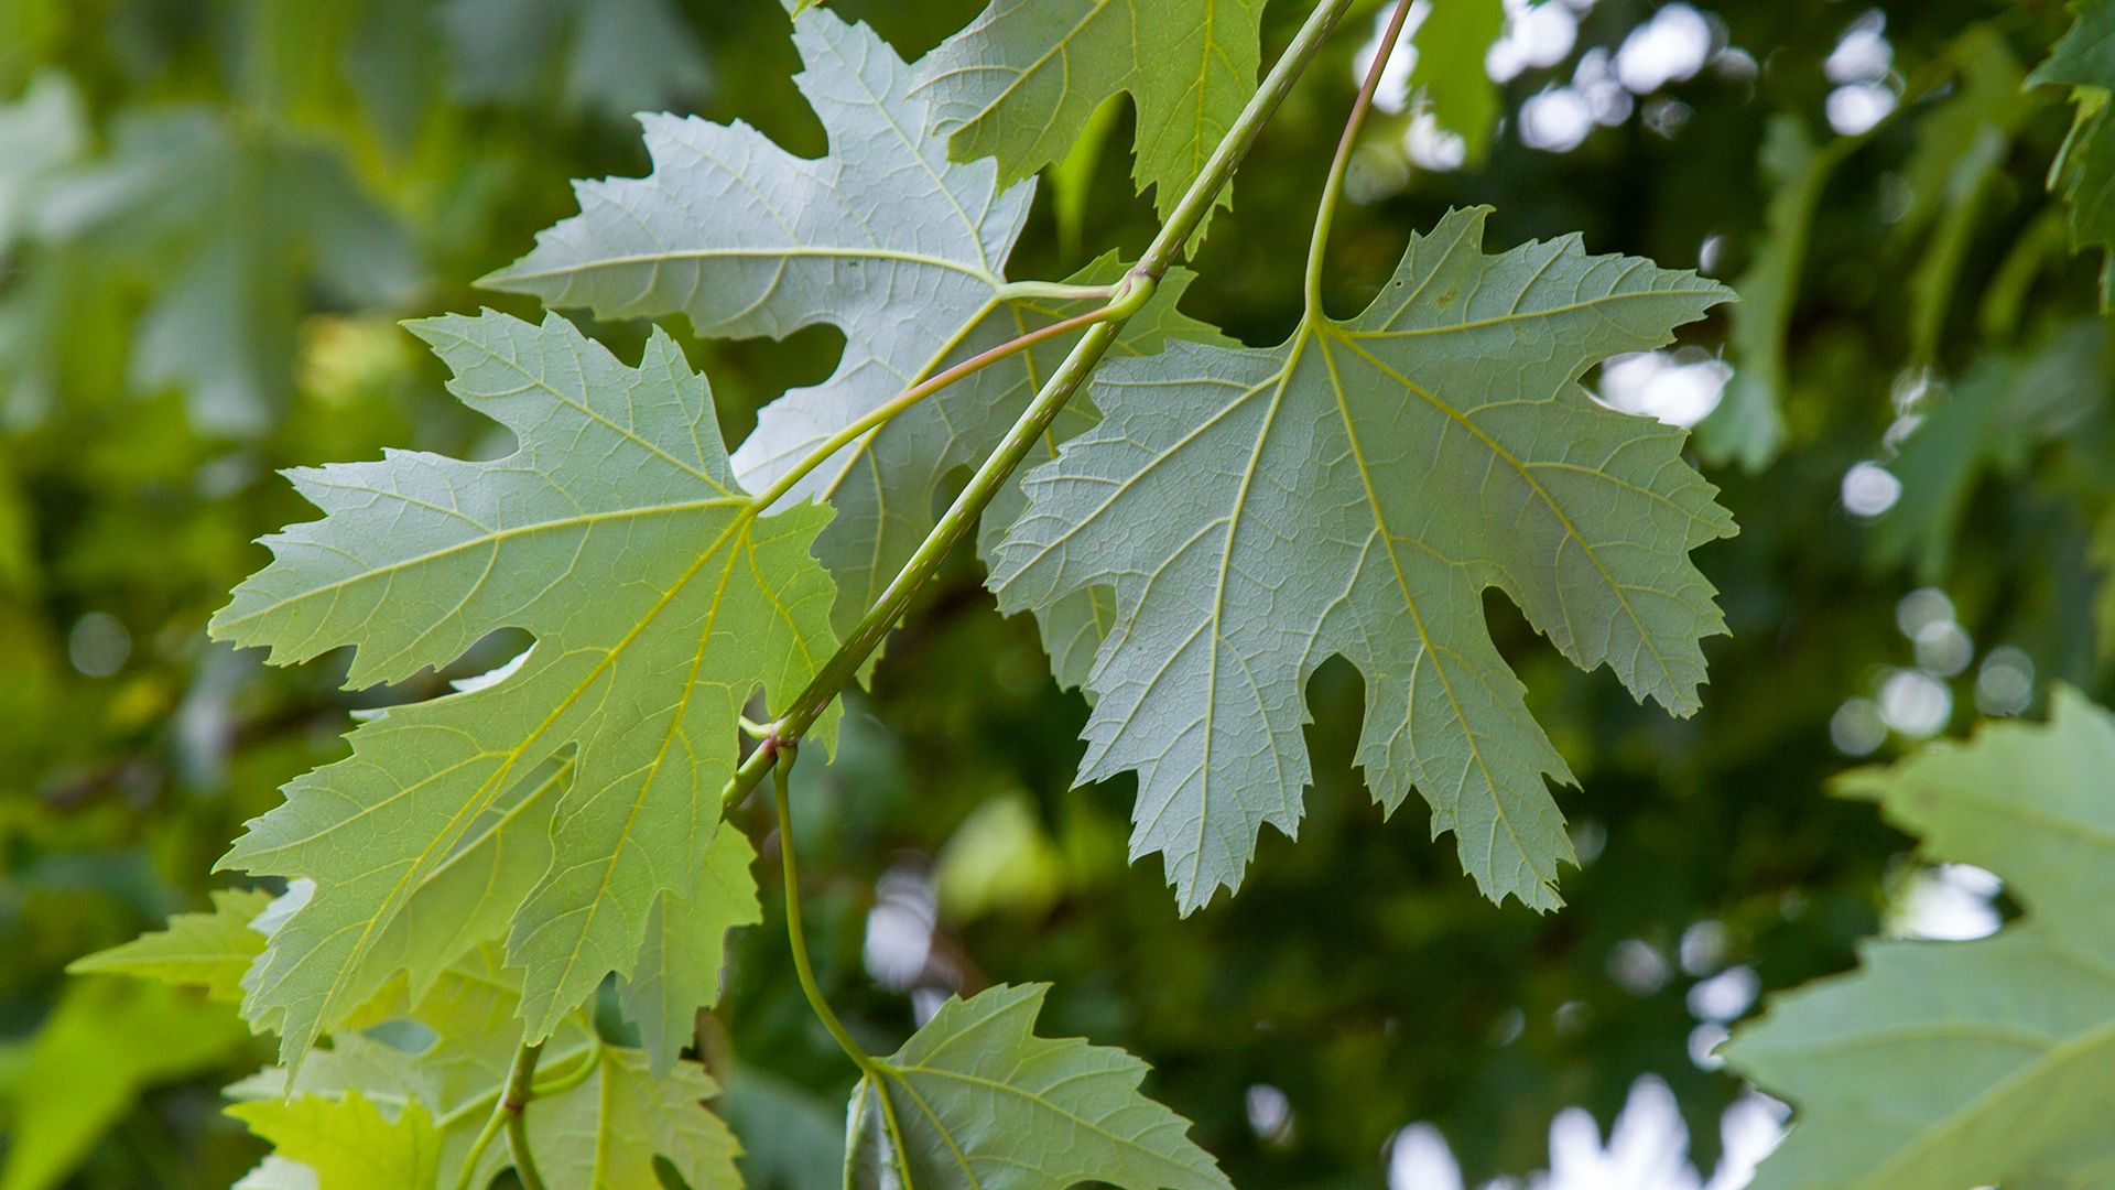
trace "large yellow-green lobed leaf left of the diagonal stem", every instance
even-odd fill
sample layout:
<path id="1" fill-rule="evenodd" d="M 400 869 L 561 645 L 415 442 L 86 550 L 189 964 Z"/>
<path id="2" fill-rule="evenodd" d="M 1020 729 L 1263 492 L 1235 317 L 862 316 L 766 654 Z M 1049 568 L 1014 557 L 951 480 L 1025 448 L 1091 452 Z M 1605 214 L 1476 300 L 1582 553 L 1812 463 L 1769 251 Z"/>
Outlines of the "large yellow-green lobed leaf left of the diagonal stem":
<path id="1" fill-rule="evenodd" d="M 605 974 L 632 974 L 656 902 L 698 891 L 744 699 L 799 688 L 833 648 L 829 576 L 808 557 L 829 515 L 755 515 L 673 341 L 628 368 L 556 315 L 415 330 L 516 453 L 292 472 L 326 517 L 266 540 L 275 561 L 212 633 L 277 663 L 357 646 L 353 686 L 446 665 L 497 629 L 537 644 L 476 688 L 362 724 L 347 760 L 292 781 L 222 860 L 315 881 L 250 974 L 247 1012 L 283 1031 L 288 1061 L 489 921 L 510 923 L 537 1040 Z M 510 817 L 522 798 L 539 809 Z M 546 830 L 508 830 L 546 813 Z M 510 834 L 546 841 L 522 853 Z M 535 870 L 525 896 L 491 894 L 499 868 L 510 887 Z"/>

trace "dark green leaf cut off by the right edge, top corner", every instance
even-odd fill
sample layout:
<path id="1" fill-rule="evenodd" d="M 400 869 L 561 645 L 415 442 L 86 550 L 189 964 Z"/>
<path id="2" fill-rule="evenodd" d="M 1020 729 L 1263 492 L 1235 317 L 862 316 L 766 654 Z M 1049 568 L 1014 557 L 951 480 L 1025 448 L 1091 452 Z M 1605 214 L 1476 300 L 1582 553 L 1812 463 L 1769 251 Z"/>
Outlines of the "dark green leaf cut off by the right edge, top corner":
<path id="1" fill-rule="evenodd" d="M 2049 167 L 2049 188 L 2062 186 L 2071 208 L 2071 250 L 2115 248 L 2115 2 L 2073 4 L 2079 19 L 2056 42 L 2026 83 L 2071 87 L 2077 116 L 2064 148 Z M 2100 271 L 2100 309 L 2115 303 L 2115 260 Z"/>

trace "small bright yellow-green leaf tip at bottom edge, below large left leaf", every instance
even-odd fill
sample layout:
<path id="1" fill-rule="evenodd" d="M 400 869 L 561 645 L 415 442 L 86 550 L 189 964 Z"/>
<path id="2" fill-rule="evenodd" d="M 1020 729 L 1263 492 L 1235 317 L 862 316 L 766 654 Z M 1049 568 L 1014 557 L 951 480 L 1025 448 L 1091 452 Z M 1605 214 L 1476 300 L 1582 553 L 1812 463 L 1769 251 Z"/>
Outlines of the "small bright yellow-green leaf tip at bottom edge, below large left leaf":
<path id="1" fill-rule="evenodd" d="M 228 1107 L 279 1148 L 281 1160 L 305 1165 L 317 1190 L 434 1186 L 440 1179 L 440 1133 L 417 1101 L 393 1118 L 357 1090 L 341 1099 L 260 1099 Z"/>

